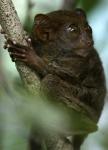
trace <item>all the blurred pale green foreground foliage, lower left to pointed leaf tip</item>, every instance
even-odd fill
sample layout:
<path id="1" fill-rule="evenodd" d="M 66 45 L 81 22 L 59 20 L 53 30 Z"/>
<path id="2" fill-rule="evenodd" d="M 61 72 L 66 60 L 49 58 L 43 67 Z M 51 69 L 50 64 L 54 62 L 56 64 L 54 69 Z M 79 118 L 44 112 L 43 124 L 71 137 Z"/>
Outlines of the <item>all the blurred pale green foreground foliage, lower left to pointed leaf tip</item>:
<path id="1" fill-rule="evenodd" d="M 9 85 L 12 83 L 9 82 Z M 45 97 L 0 86 L 0 145 L 2 150 L 26 150 L 32 127 L 42 136 L 88 134 L 97 125 L 75 110 L 48 102 Z M 21 88 L 21 87 L 20 87 Z"/>

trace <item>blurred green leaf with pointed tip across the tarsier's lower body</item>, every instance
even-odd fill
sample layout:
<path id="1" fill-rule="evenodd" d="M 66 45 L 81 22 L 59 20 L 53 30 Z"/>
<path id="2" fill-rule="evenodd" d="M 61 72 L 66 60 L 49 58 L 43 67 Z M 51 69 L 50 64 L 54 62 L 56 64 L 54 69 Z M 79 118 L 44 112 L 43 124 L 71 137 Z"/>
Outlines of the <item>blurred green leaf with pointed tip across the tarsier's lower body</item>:
<path id="1" fill-rule="evenodd" d="M 39 102 L 41 101 L 38 98 Z M 31 105 L 32 116 L 28 120 L 34 120 L 36 128 L 45 133 L 61 133 L 64 135 L 89 134 L 97 131 L 96 122 L 92 121 L 88 116 L 67 107 L 57 105 L 55 103 L 41 103 Z M 30 108 L 30 105 L 29 105 Z M 37 111 L 37 112 L 36 112 Z M 27 114 L 27 113 L 26 113 Z M 34 116 L 34 117 L 33 117 Z M 30 121 L 29 120 L 29 121 Z M 43 133 L 42 133 L 43 134 Z"/>

